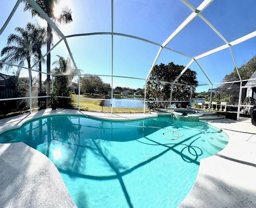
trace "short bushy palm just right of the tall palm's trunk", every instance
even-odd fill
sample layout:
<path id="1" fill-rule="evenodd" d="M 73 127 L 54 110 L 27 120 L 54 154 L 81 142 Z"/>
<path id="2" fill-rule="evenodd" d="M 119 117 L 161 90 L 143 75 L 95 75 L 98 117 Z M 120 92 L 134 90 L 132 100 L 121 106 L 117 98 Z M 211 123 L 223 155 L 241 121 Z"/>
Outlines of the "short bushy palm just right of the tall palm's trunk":
<path id="1" fill-rule="evenodd" d="M 56 94 L 62 97 L 70 97 L 74 91 L 69 86 L 70 81 L 74 78 L 77 73 L 76 69 L 71 66 L 70 58 L 65 59 L 64 57 L 57 55 L 58 60 L 53 62 L 55 68 L 53 69 L 55 74 L 60 74 L 60 76 L 54 77 L 54 88 L 56 89 Z M 72 75 L 64 75 L 72 74 Z M 74 74 L 74 75 L 73 75 Z M 72 107 L 72 99 L 70 98 L 58 98 L 58 105 L 60 107 Z"/>

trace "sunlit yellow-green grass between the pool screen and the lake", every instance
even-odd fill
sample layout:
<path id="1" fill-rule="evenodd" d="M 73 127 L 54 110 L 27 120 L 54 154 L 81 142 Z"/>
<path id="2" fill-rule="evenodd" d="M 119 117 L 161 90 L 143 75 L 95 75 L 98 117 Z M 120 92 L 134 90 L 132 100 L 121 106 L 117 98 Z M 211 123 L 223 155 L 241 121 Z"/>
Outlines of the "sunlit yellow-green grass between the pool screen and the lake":
<path id="1" fill-rule="evenodd" d="M 73 107 L 75 109 L 78 109 L 78 95 L 72 95 L 74 97 Z M 104 113 L 111 113 L 111 107 L 106 106 L 100 106 L 99 100 L 89 100 L 89 99 L 83 99 L 83 98 L 100 98 L 98 95 L 94 95 L 92 97 L 91 95 L 80 95 L 80 109 L 85 111 L 96 111 L 96 112 L 104 112 Z M 145 112 L 149 112 L 149 110 L 146 108 Z M 113 107 L 113 113 L 143 113 L 143 108 L 118 108 Z"/>

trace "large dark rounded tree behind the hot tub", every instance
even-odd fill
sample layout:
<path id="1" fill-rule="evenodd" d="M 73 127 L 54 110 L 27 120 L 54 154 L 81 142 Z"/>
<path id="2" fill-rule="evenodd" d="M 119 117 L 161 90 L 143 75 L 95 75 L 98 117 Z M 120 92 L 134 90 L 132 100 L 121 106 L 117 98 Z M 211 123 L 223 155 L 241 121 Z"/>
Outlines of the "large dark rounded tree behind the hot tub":
<path id="1" fill-rule="evenodd" d="M 161 63 L 160 65 L 155 65 L 152 69 L 149 80 L 166 81 L 172 83 L 174 79 L 180 74 L 184 69 L 183 65 L 176 65 L 173 62 L 166 64 Z M 170 101 L 171 84 L 148 81 L 146 84 L 146 100 L 149 101 Z M 184 85 L 173 85 L 172 87 L 172 104 L 176 107 L 186 107 L 190 101 L 190 93 L 195 92 L 198 86 L 198 81 L 196 80 L 196 72 L 191 69 L 187 69 L 177 83 Z M 175 101 L 187 101 L 187 102 L 175 102 Z M 169 102 L 146 102 L 149 109 L 156 108 L 167 108 L 170 104 Z"/>

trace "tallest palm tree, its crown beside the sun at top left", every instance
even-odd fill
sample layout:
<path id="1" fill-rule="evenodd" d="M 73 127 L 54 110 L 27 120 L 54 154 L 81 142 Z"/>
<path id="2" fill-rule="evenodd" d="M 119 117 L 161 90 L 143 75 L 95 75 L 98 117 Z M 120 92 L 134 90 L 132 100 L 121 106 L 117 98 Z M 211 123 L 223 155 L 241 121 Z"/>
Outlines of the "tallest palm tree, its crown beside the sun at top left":
<path id="1" fill-rule="evenodd" d="M 39 16 L 42 18 L 40 14 L 34 8 L 26 1 L 22 0 L 25 3 L 24 11 L 29 10 L 32 14 L 32 16 Z M 51 18 L 54 22 L 59 22 L 63 24 L 67 24 L 72 22 L 72 12 L 70 8 L 67 6 L 62 8 L 60 15 L 56 16 L 54 14 L 54 9 L 56 5 L 59 3 L 60 0 L 36 0 L 36 3 L 44 10 L 44 12 Z M 47 52 L 50 51 L 50 46 L 52 43 L 52 27 L 49 23 L 47 23 Z M 51 55 L 48 53 L 47 60 L 46 60 L 46 68 L 47 73 L 50 73 L 50 65 L 51 65 Z M 46 93 L 47 95 L 50 94 L 50 75 L 47 75 L 46 78 Z"/>

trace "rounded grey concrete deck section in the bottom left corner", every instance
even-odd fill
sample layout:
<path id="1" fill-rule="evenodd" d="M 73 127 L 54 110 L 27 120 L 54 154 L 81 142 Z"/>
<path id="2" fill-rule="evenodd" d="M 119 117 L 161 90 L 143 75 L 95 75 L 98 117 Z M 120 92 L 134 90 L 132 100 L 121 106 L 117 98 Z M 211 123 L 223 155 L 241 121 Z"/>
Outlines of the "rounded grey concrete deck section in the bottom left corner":
<path id="1" fill-rule="evenodd" d="M 23 142 L 0 144 L 0 207 L 76 208 L 60 172 Z"/>

